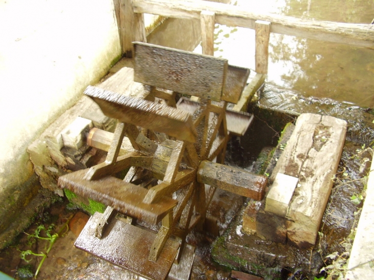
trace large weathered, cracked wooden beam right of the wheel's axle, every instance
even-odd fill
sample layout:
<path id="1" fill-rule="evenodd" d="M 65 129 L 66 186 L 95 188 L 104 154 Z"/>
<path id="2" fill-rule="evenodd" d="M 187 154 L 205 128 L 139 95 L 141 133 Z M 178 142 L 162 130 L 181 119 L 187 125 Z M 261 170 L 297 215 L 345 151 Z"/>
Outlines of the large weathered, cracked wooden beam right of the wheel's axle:
<path id="1" fill-rule="evenodd" d="M 347 123 L 330 116 L 301 114 L 271 176 L 299 178 L 287 209 L 287 237 L 300 247 L 315 244 L 342 153 Z"/>

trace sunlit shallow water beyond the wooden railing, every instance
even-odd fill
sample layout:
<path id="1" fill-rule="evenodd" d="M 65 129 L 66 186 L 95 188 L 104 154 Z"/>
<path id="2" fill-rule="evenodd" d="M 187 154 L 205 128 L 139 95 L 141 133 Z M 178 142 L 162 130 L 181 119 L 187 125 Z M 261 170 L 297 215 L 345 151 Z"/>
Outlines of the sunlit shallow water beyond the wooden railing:
<path id="1" fill-rule="evenodd" d="M 370 24 L 372 0 L 238 0 L 256 13 Z M 215 56 L 255 69 L 255 32 L 216 25 Z M 362 107 L 374 106 L 374 50 L 271 33 L 267 84 L 304 96 L 328 97 Z"/>

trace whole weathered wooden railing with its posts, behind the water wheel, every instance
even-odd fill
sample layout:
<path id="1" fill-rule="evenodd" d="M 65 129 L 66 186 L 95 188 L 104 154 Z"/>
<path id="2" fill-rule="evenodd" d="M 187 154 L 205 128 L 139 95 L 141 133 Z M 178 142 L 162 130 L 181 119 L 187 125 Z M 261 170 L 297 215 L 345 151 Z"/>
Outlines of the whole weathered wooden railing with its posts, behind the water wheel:
<path id="1" fill-rule="evenodd" d="M 201 22 L 203 54 L 213 55 L 214 25 L 244 27 L 256 31 L 255 71 L 250 87 L 256 91 L 267 74 L 270 33 L 374 49 L 374 26 L 335 23 L 276 14 L 256 14 L 239 6 L 196 0 L 114 0 L 122 53 L 132 57 L 133 41 L 146 41 L 144 13 L 175 18 L 196 18 Z M 253 94 L 253 91 L 246 94 Z M 244 100 L 244 99 L 243 99 Z M 244 101 L 237 106 L 242 106 Z M 242 107 L 238 107 L 240 110 Z"/>

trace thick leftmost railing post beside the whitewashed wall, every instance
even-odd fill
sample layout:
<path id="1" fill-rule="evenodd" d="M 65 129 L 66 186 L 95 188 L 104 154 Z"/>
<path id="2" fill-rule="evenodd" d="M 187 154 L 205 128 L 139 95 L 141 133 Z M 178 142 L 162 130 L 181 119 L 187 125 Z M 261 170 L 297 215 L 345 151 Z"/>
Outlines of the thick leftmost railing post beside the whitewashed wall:
<path id="1" fill-rule="evenodd" d="M 142 13 L 134 13 L 132 0 L 119 0 L 118 29 L 122 55 L 131 58 L 133 57 L 132 42 L 147 41 L 144 15 Z"/>

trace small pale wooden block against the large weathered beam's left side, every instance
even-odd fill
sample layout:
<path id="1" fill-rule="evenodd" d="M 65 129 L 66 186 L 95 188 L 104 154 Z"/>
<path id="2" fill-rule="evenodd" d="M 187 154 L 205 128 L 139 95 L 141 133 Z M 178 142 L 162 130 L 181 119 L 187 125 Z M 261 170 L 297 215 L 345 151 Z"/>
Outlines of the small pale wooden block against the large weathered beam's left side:
<path id="1" fill-rule="evenodd" d="M 265 211 L 285 218 L 299 179 L 278 173 L 266 196 Z"/>

